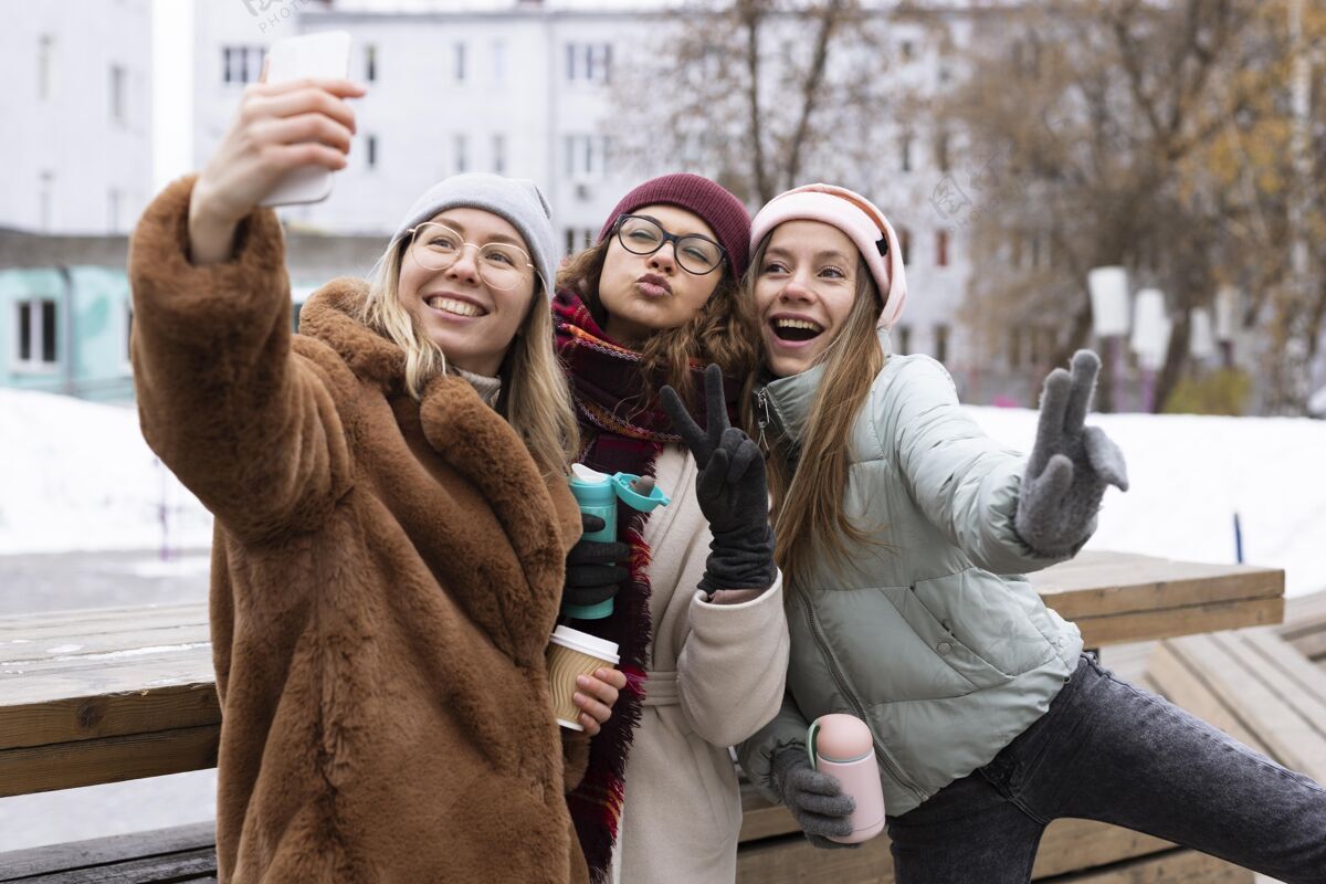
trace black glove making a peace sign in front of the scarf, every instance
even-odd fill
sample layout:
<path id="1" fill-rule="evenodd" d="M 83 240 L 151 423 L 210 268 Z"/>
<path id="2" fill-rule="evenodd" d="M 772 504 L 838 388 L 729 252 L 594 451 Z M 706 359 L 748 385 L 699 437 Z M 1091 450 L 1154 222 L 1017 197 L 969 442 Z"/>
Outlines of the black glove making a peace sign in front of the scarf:
<path id="1" fill-rule="evenodd" d="M 704 370 L 705 423 L 700 428 L 672 387 L 663 387 L 663 410 L 700 468 L 695 496 L 709 520 L 709 558 L 700 588 L 766 590 L 773 586 L 773 529 L 764 455 L 749 436 L 728 423 L 723 371 Z"/>

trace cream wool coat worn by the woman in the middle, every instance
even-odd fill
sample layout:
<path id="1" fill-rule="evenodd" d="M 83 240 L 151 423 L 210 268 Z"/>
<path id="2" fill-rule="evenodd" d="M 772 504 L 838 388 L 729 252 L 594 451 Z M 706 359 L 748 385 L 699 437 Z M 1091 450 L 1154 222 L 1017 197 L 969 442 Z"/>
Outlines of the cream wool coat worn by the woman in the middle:
<path id="1" fill-rule="evenodd" d="M 655 463 L 672 502 L 644 524 L 654 644 L 613 857 L 613 880 L 621 884 L 735 880 L 741 798 L 728 746 L 768 724 L 782 704 L 782 578 L 752 600 L 704 600 L 697 587 L 709 525 L 695 498 L 696 472 L 680 445 L 667 445 Z"/>

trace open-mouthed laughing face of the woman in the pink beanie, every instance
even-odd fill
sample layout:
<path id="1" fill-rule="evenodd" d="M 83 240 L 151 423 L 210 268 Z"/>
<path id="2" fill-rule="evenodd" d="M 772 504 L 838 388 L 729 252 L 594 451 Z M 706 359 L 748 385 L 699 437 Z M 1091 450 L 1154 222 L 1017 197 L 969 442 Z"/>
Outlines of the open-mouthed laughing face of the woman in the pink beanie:
<path id="1" fill-rule="evenodd" d="M 754 268 L 765 364 L 780 378 L 812 367 L 842 331 L 857 293 L 857 247 L 821 221 L 774 228 Z"/>

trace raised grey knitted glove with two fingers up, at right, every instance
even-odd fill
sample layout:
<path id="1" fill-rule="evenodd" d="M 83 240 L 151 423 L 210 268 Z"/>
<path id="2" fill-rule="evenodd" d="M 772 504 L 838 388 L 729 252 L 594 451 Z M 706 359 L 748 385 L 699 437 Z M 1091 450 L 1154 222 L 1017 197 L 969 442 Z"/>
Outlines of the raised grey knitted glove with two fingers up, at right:
<path id="1" fill-rule="evenodd" d="M 1022 476 L 1013 527 L 1042 555 L 1074 553 L 1095 531 L 1107 485 L 1128 490 L 1123 452 L 1099 427 L 1087 427 L 1101 358 L 1073 357 L 1073 374 L 1055 368 L 1045 379 L 1041 420 Z"/>

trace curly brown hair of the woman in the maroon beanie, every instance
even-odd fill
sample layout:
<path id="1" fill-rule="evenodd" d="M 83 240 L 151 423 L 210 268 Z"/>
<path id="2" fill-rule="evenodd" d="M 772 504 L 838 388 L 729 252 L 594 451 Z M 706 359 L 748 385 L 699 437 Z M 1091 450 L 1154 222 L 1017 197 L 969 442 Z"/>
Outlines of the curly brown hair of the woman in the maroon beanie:
<path id="1" fill-rule="evenodd" d="M 575 292 L 601 329 L 607 325 L 607 310 L 598 296 L 598 281 L 615 239 L 615 235 L 605 237 L 573 256 L 557 272 L 557 288 Z M 758 339 L 754 314 L 741 297 L 741 284 L 732 274 L 731 265 L 724 262 L 723 276 L 704 306 L 690 321 L 651 335 L 640 350 L 644 380 L 642 406 L 652 400 L 658 379 L 676 390 L 683 402 L 695 406 L 700 391 L 693 383 L 692 366 L 717 363 L 723 374 L 744 380 L 754 372 Z"/>

